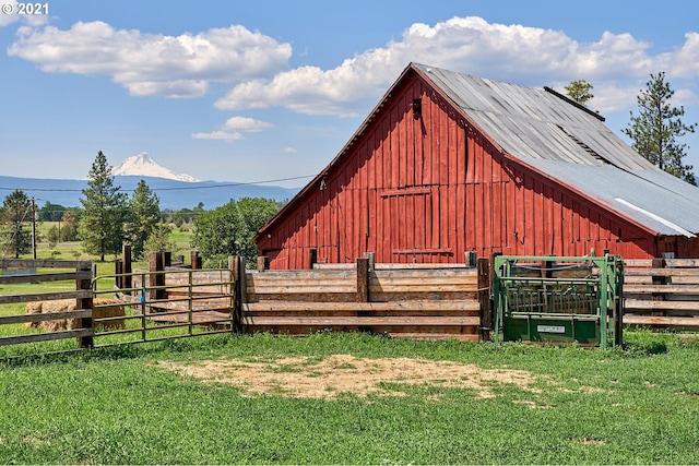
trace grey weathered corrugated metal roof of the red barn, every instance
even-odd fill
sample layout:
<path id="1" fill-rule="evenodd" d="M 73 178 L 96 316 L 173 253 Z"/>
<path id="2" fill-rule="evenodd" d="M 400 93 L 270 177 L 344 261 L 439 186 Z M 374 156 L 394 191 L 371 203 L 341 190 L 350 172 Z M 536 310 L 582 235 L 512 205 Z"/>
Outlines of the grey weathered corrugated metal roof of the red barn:
<path id="1" fill-rule="evenodd" d="M 657 235 L 699 234 L 699 189 L 545 89 L 413 65 L 509 155 Z"/>

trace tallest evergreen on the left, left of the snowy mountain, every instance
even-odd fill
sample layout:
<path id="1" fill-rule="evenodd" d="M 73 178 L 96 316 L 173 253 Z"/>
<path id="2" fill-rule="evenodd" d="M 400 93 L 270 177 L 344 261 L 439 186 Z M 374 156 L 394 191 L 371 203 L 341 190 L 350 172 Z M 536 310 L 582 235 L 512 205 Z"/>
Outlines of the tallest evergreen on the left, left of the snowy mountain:
<path id="1" fill-rule="evenodd" d="M 84 198 L 80 199 L 83 213 L 79 232 L 83 249 L 104 261 L 105 254 L 118 254 L 121 251 L 126 194 L 119 192 L 120 187 L 114 186 L 111 167 L 102 151 L 97 153 L 87 179 Z"/>

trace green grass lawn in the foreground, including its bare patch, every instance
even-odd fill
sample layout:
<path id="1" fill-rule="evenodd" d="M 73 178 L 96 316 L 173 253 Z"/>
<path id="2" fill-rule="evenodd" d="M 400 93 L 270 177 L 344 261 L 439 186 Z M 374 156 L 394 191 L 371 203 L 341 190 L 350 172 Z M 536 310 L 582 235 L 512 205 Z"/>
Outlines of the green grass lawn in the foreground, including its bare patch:
<path id="1" fill-rule="evenodd" d="M 0 464 L 698 464 L 699 344 L 215 335 L 0 362 Z"/>

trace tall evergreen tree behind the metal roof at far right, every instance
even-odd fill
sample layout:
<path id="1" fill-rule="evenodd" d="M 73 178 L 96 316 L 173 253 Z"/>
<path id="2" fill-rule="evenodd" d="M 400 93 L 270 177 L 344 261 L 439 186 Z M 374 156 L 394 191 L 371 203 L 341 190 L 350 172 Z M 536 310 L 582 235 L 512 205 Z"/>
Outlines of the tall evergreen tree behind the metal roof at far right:
<path id="1" fill-rule="evenodd" d="M 685 108 L 672 106 L 675 92 L 665 81 L 664 72 L 651 74 L 645 86 L 636 99 L 639 115 L 635 117 L 631 111 L 631 121 L 624 132 L 631 139 L 633 150 L 651 164 L 696 184 L 694 167 L 683 162 L 687 145 L 677 142 L 677 138 L 694 133 L 697 123 L 685 124 L 682 121 Z"/>

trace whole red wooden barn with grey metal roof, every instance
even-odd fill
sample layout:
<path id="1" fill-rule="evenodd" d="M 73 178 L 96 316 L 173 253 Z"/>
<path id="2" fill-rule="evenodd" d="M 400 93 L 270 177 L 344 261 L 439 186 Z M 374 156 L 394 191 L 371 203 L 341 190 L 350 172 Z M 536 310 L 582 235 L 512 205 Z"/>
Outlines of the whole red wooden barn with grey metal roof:
<path id="1" fill-rule="evenodd" d="M 411 63 L 257 236 L 271 268 L 465 254 L 699 256 L 699 190 L 553 89 Z"/>

